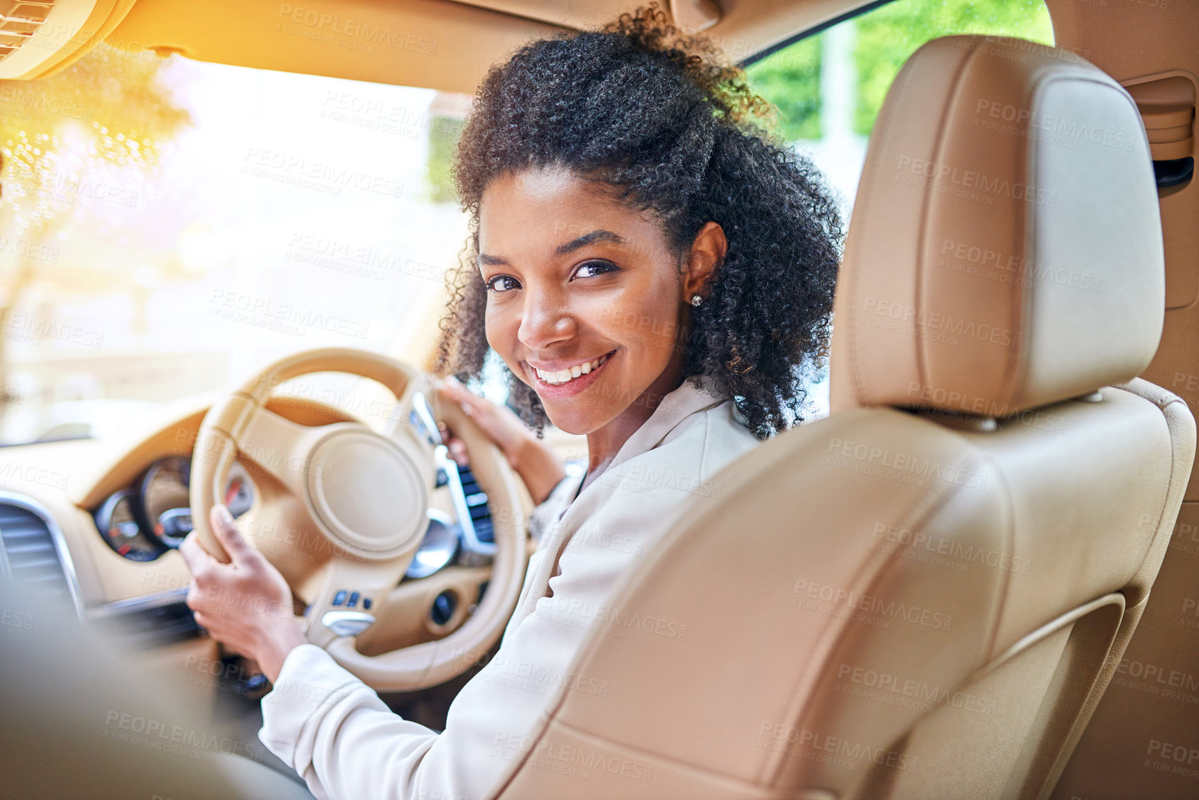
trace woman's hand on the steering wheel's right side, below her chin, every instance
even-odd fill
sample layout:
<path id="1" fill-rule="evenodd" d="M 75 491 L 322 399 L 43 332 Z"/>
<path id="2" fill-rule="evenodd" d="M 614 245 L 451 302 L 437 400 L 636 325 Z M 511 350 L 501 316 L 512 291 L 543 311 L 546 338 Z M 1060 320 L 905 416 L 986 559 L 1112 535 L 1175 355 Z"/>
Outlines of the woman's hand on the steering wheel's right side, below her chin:
<path id="1" fill-rule="evenodd" d="M 442 398 L 457 403 L 463 413 L 472 419 L 480 428 L 495 443 L 508 464 L 525 482 L 534 503 L 542 503 L 566 475 L 561 462 L 554 451 L 534 435 L 532 431 L 506 405 L 499 405 L 466 390 L 458 379 L 450 375 L 439 386 Z M 441 438 L 450 450 L 450 457 L 459 465 L 466 467 L 466 445 L 439 422 Z"/>

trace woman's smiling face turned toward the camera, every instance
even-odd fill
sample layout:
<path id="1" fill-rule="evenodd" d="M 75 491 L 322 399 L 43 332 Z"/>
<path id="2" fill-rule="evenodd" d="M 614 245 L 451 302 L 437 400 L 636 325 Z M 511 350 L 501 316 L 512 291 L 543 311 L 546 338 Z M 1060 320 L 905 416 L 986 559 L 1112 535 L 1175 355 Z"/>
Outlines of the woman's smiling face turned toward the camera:
<path id="1" fill-rule="evenodd" d="M 683 297 L 710 267 L 673 253 L 647 215 L 564 168 L 508 173 L 483 192 L 478 252 L 488 344 L 555 426 L 644 421 L 677 387 Z"/>

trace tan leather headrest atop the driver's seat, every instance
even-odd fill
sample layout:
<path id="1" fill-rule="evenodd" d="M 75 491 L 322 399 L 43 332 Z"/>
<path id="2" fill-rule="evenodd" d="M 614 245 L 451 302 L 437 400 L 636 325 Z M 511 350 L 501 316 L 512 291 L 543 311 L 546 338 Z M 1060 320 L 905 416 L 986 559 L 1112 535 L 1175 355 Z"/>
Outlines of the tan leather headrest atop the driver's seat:
<path id="1" fill-rule="evenodd" d="M 837 284 L 833 410 L 1006 417 L 1135 378 L 1165 267 L 1145 130 L 1067 50 L 920 48 L 870 136 Z"/>

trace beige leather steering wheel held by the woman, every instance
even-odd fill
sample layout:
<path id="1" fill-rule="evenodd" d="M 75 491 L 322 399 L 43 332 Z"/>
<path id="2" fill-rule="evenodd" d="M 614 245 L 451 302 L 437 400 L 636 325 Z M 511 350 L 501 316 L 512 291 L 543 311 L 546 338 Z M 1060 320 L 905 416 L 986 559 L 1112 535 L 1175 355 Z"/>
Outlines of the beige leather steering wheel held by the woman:
<path id="1" fill-rule="evenodd" d="M 275 386 L 313 372 L 347 372 L 386 386 L 397 405 L 384 433 L 361 422 L 300 425 L 266 408 Z M 236 459 L 257 489 L 239 530 L 283 573 L 297 607 L 306 608 L 308 640 L 381 691 L 434 686 L 465 672 L 499 639 L 524 581 L 528 493 L 494 443 L 457 403 L 442 399 L 439 387 L 440 381 L 374 353 L 309 350 L 272 363 L 215 403 L 192 456 L 189 499 L 200 545 L 228 561 L 209 511 L 223 497 Z M 410 422 L 414 410 L 424 425 Z M 486 491 L 493 542 L 475 535 L 470 507 L 482 495 L 459 497 L 457 465 L 435 428 L 428 431 L 430 416 L 466 445 L 478 488 Z M 402 583 L 433 517 L 460 533 L 459 561 L 475 566 Z M 463 596 L 472 590 L 476 596 Z M 429 606 L 446 593 L 457 593 L 453 613 L 428 622 Z M 418 614 L 426 618 L 397 619 Z M 397 637 L 375 634 L 382 620 L 392 628 L 412 630 L 422 621 L 426 627 L 417 643 L 388 649 Z"/>

